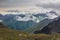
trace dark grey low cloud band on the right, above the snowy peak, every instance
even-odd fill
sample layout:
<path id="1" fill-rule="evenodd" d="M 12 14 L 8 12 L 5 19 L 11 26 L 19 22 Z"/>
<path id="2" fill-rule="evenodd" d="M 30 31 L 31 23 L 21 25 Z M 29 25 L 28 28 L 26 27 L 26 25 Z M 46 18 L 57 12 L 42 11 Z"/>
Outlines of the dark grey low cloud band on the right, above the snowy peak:
<path id="1" fill-rule="evenodd" d="M 37 7 L 60 10 L 60 3 L 36 4 Z"/>

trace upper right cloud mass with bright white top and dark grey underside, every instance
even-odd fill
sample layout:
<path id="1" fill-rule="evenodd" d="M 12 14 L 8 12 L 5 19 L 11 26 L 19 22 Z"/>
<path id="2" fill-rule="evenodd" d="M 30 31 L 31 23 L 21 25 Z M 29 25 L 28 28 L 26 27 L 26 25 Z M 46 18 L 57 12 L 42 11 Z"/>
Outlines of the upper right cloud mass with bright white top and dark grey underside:
<path id="1" fill-rule="evenodd" d="M 36 4 L 37 7 L 43 7 L 45 9 L 60 10 L 59 0 L 40 0 Z"/>

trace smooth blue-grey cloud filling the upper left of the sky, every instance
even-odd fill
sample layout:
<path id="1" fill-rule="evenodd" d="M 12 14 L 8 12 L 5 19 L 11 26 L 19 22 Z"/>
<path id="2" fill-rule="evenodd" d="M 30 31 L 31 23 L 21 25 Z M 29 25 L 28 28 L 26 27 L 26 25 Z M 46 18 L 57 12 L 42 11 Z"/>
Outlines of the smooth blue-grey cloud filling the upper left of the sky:
<path id="1" fill-rule="evenodd" d="M 0 0 L 0 7 L 32 6 L 34 0 Z"/>

